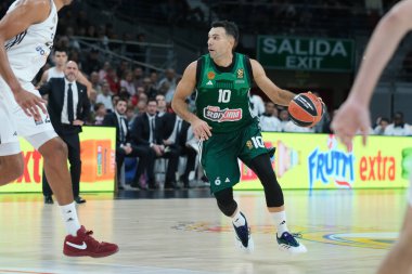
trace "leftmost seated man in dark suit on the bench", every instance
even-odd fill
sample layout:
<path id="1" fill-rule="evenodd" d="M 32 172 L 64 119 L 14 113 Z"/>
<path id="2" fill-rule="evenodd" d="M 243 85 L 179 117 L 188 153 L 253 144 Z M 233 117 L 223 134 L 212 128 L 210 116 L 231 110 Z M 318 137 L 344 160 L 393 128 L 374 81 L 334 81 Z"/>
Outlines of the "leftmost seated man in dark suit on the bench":
<path id="1" fill-rule="evenodd" d="M 144 145 L 134 144 L 130 139 L 129 122 L 126 118 L 127 101 L 120 97 L 115 105 L 115 112 L 108 113 L 103 119 L 103 126 L 116 128 L 116 167 L 117 181 L 120 179 L 120 168 L 125 157 L 139 157 L 136 177 L 140 175 L 152 165 L 155 159 L 155 152 Z M 118 185 L 121 188 L 120 185 Z"/>

